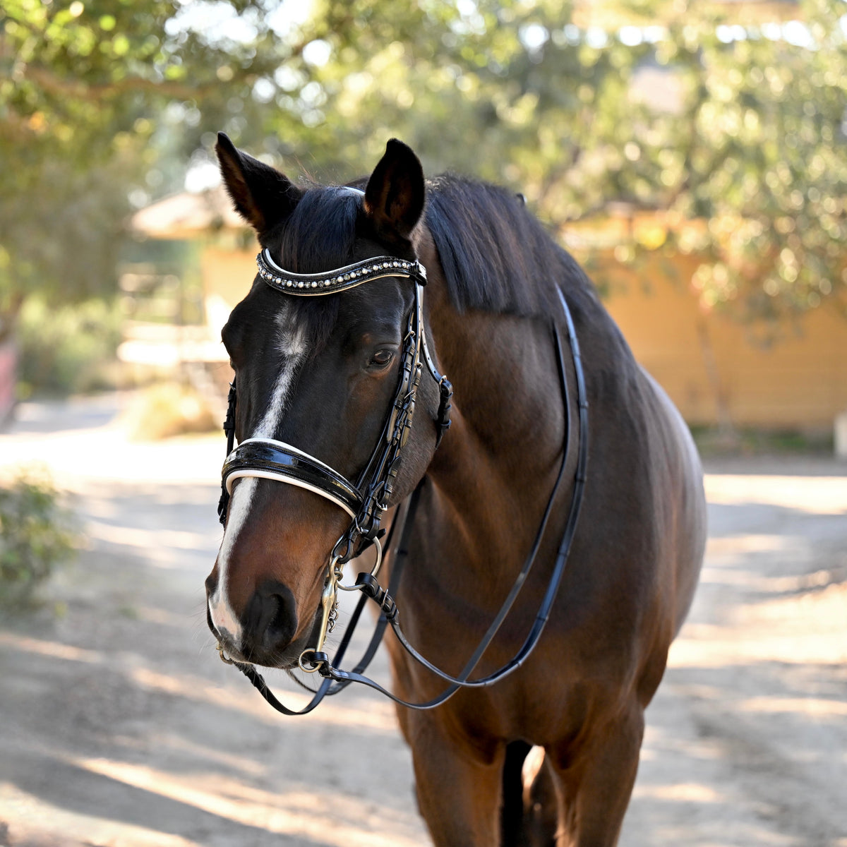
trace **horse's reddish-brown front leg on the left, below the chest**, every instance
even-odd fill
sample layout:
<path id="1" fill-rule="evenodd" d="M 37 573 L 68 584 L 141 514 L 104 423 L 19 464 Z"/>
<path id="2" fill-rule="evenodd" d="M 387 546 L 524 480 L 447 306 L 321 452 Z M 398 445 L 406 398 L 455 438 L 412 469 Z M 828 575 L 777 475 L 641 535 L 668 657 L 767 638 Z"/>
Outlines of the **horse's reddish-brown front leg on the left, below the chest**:
<path id="1" fill-rule="evenodd" d="M 504 746 L 470 741 L 443 709 L 400 717 L 435 847 L 497 847 Z"/>

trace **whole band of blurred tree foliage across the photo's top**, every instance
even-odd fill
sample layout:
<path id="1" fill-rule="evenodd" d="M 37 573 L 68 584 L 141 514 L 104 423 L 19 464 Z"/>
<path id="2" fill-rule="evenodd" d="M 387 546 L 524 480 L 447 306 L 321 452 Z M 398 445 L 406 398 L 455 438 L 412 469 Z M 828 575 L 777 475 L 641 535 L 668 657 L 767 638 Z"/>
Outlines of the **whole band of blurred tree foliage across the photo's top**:
<path id="1" fill-rule="evenodd" d="M 767 17 L 778 4 L 691 0 L 3 8 L 0 155 L 14 147 L 22 166 L 0 191 L 24 199 L 0 213 L 0 232 L 17 227 L 0 235 L 0 298 L 107 278 L 73 270 L 81 252 L 43 250 L 87 233 L 90 257 L 119 224 L 108 203 L 75 208 L 93 179 L 80 170 L 112 163 L 106 184 L 155 196 L 180 158 L 208 161 L 219 129 L 329 180 L 401 136 L 429 172 L 505 181 L 556 228 L 612 203 L 659 212 L 617 255 L 694 252 L 704 307 L 776 318 L 847 290 L 844 0 L 802 0 L 786 23 Z M 56 186 L 64 230 L 38 224 Z"/>

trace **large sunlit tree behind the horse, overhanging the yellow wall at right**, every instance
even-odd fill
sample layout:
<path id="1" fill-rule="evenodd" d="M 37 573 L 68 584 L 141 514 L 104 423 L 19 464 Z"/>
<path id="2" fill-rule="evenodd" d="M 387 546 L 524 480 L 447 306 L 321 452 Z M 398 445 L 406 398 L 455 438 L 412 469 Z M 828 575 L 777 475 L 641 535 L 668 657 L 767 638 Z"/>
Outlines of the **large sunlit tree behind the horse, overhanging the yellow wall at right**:
<path id="1" fill-rule="evenodd" d="M 610 202 L 667 213 L 619 255 L 696 253 L 706 309 L 843 307 L 847 4 L 802 3 L 784 25 L 735 3 L 606 8 L 602 30 L 544 0 L 329 2 L 331 59 L 297 72 L 319 86 L 324 143 L 373 158 L 370 137 L 399 129 L 436 167 L 505 178 L 556 226 Z"/>

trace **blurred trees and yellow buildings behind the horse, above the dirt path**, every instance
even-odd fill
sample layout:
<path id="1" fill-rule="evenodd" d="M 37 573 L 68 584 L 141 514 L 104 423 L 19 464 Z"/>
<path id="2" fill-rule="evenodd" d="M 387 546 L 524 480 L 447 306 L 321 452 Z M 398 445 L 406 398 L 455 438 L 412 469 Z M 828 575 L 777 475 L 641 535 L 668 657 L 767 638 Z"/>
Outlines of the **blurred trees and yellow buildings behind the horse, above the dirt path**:
<path id="1" fill-rule="evenodd" d="M 690 424 L 832 438 L 843 0 L 3 9 L 6 412 L 157 365 L 226 384 L 254 246 L 219 188 L 225 130 L 292 177 L 369 173 L 398 136 L 428 174 L 521 191 Z"/>

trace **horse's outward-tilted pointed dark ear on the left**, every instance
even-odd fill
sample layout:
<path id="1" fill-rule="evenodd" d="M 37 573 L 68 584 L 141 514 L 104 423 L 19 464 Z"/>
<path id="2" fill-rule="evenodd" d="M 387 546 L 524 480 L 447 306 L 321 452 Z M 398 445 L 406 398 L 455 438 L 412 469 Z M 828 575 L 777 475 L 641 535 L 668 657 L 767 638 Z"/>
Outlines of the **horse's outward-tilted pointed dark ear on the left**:
<path id="1" fill-rule="evenodd" d="M 256 230 L 262 241 L 274 224 L 291 214 L 301 191 L 285 174 L 238 150 L 224 132 L 218 133 L 215 152 L 235 211 Z"/>

